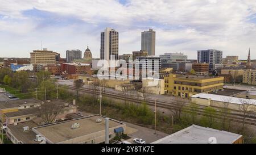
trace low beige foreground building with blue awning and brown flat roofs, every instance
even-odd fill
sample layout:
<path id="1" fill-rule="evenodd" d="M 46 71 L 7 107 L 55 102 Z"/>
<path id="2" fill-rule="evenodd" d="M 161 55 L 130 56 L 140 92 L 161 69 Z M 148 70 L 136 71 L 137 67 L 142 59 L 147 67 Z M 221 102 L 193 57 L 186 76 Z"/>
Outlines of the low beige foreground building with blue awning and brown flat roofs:
<path id="1" fill-rule="evenodd" d="M 24 131 L 24 127 L 27 128 Z M 109 140 L 123 133 L 130 133 L 126 124 L 109 119 Z M 105 117 L 82 116 L 64 122 L 39 126 L 32 121 L 7 126 L 7 135 L 15 144 L 35 144 L 36 135 L 46 144 L 93 144 L 105 141 Z"/>

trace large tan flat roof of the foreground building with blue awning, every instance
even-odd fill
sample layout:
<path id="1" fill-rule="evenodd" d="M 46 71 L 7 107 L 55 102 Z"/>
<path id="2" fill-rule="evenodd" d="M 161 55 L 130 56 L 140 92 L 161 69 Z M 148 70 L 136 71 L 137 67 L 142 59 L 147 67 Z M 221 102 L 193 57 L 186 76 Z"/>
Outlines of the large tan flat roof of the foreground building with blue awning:
<path id="1" fill-rule="evenodd" d="M 102 119 L 102 122 L 96 123 L 96 119 L 99 118 Z M 74 123 L 79 123 L 80 127 L 77 129 L 71 129 L 71 126 Z M 122 124 L 123 123 L 117 122 L 113 119 L 109 119 L 109 128 L 117 127 Z M 62 141 L 75 139 L 76 137 L 104 130 L 105 117 L 100 115 L 93 115 L 34 128 L 36 133 L 46 137 L 46 139 L 52 141 L 52 143 L 60 143 Z"/>

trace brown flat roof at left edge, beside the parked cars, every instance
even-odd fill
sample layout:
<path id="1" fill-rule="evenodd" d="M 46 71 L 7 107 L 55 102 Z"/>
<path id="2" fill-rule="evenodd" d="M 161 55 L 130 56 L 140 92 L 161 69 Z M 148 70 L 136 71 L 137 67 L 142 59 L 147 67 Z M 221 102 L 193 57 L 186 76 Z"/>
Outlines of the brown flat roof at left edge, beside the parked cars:
<path id="1" fill-rule="evenodd" d="M 34 104 L 34 103 L 42 103 L 42 101 L 34 99 L 34 98 L 8 100 L 8 101 L 0 102 L 0 109 L 14 108 L 14 107 L 19 107 L 23 104 Z"/>

